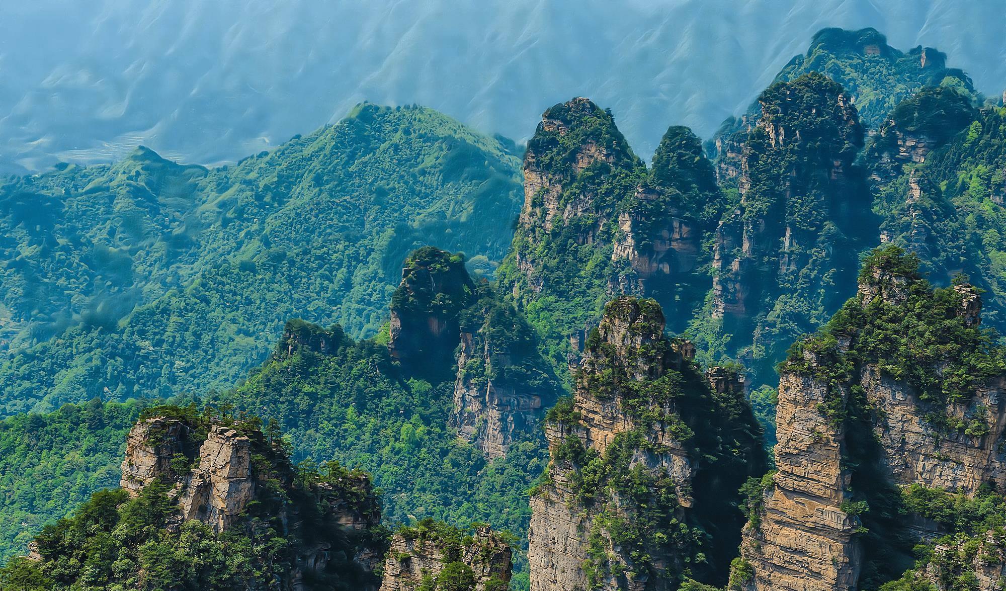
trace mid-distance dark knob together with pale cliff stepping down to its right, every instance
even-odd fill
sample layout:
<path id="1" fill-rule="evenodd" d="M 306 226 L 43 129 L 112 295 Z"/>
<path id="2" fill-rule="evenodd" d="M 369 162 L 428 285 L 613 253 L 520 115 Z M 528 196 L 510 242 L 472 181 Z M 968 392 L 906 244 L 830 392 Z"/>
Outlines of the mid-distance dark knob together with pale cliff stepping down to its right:
<path id="1" fill-rule="evenodd" d="M 484 279 L 476 284 L 459 254 L 423 247 L 401 274 L 388 350 L 404 374 L 453 381 L 450 424 L 490 458 L 505 455 L 514 439 L 540 436 L 542 409 L 560 387 L 524 317 Z M 322 353 L 343 338 L 341 331 L 318 335 L 290 326 L 287 333 L 285 342 Z"/>

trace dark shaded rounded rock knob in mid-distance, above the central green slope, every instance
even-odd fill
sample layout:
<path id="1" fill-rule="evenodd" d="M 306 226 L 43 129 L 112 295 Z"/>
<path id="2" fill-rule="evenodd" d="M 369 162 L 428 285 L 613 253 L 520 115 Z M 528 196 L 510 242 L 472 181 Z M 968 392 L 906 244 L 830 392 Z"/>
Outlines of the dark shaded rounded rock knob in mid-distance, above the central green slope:
<path id="1" fill-rule="evenodd" d="M 407 372 L 449 371 L 461 334 L 458 316 L 474 301 L 461 256 L 432 246 L 414 251 L 391 297 L 391 357 Z"/>

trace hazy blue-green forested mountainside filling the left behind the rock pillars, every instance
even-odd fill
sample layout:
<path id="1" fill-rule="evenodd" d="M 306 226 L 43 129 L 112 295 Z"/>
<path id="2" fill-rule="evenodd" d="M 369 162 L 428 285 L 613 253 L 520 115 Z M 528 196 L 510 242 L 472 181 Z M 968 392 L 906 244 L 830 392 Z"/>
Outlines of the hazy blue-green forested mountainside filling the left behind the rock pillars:
<path id="1" fill-rule="evenodd" d="M 373 334 L 436 242 L 491 273 L 516 160 L 436 112 L 363 105 L 233 167 L 141 150 L 0 186 L 0 413 L 228 387 L 286 319 Z"/>

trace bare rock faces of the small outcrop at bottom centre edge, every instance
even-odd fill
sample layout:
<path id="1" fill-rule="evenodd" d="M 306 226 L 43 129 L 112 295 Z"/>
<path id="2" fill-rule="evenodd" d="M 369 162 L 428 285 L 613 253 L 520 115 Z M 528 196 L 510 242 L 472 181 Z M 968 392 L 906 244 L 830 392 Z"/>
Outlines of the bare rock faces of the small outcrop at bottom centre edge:
<path id="1" fill-rule="evenodd" d="M 486 591 L 487 583 L 491 591 L 499 591 L 510 581 L 512 550 L 485 526 L 476 528 L 471 542 L 460 547 L 397 532 L 391 538 L 384 561 L 380 591 L 415 591 L 425 581 L 443 585 L 443 576 L 457 572 L 448 571 L 452 563 L 461 563 L 472 570 L 474 591 Z"/>

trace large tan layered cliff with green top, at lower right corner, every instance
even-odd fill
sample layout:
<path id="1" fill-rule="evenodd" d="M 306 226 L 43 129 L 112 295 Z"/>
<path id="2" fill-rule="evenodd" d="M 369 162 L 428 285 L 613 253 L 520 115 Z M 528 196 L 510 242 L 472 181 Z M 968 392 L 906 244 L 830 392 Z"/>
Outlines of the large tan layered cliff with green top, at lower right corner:
<path id="1" fill-rule="evenodd" d="M 779 471 L 757 500 L 733 588 L 877 588 L 911 566 L 915 544 L 985 538 L 988 510 L 948 517 L 954 503 L 980 497 L 1001 520 L 988 487 L 1006 486 L 1006 350 L 980 328 L 977 289 L 934 289 L 918 264 L 895 246 L 875 251 L 856 298 L 783 366 Z M 933 552 L 958 553 L 948 540 Z M 979 571 L 1002 568 L 983 556 Z M 949 564 L 906 577 L 975 571 Z"/>

